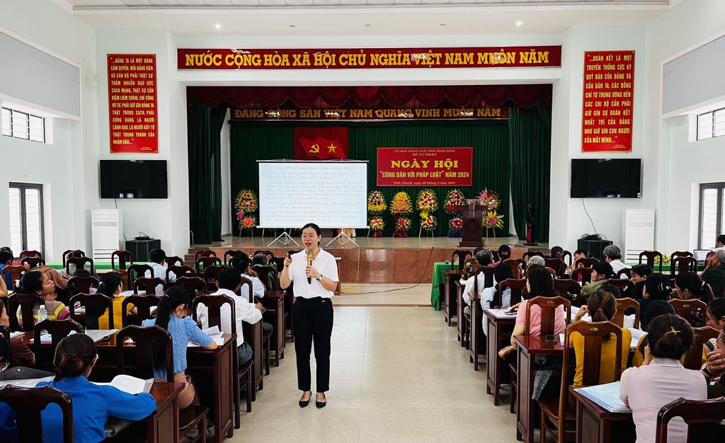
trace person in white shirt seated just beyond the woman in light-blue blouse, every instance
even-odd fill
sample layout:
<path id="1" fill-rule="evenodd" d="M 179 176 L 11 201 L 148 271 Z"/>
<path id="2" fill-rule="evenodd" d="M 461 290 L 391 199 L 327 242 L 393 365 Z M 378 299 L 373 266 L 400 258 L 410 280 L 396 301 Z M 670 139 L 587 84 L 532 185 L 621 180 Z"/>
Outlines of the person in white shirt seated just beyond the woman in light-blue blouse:
<path id="1" fill-rule="evenodd" d="M 234 300 L 236 337 L 237 343 L 241 343 L 236 348 L 236 351 L 239 355 L 239 364 L 244 365 L 244 363 L 252 360 L 254 352 L 252 347 L 249 346 L 249 343 L 244 341 L 244 331 L 241 322 L 246 321 L 247 323 L 254 324 L 262 320 L 262 305 L 260 303 L 252 305 L 245 297 L 240 297 L 238 294 L 240 285 L 241 276 L 236 269 L 222 270 L 217 276 L 218 291 L 211 295 L 225 295 Z M 209 309 L 203 303 L 199 303 L 196 306 L 196 316 L 199 318 L 199 322 L 202 323 L 202 328 L 206 329 L 209 327 Z M 221 321 L 222 332 L 231 334 L 231 312 L 228 305 L 221 307 Z"/>

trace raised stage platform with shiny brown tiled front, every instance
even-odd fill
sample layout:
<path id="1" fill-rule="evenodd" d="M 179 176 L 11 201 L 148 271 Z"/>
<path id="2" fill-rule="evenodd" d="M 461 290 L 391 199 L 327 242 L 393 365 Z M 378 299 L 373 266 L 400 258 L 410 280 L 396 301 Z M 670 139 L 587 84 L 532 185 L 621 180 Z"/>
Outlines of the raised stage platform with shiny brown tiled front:
<path id="1" fill-rule="evenodd" d="M 186 257 L 186 260 L 194 261 L 196 249 L 212 249 L 218 257 L 223 257 L 224 252 L 230 249 L 240 249 L 250 255 L 257 250 L 270 250 L 275 257 L 282 257 L 292 249 L 302 249 L 294 243 L 285 246 L 279 241 L 268 246 L 273 239 L 274 237 L 229 236 L 223 242 L 212 245 L 194 245 L 190 251 L 191 257 Z M 300 243 L 299 239 L 294 240 Z M 330 240 L 331 238 L 323 237 L 321 246 L 335 257 L 341 257 L 341 283 L 431 283 L 434 262 L 450 260 L 455 249 L 473 249 L 459 248 L 460 239 L 447 237 L 373 239 L 363 236 L 354 239 L 360 248 L 350 241 L 347 244 L 335 241 L 326 247 Z M 502 244 L 510 245 L 513 258 L 521 258 L 529 250 L 516 237 L 484 239 L 484 247 L 489 249 L 498 250 Z M 539 244 L 531 249 L 548 252 L 548 244 Z"/>

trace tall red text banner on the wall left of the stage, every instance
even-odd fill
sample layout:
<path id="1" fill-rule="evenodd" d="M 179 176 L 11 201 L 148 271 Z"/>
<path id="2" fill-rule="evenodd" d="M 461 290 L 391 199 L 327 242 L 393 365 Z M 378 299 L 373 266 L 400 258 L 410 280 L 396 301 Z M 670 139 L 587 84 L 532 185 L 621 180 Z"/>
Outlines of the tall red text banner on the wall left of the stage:
<path id="1" fill-rule="evenodd" d="M 159 152 L 156 54 L 108 54 L 111 152 Z"/>

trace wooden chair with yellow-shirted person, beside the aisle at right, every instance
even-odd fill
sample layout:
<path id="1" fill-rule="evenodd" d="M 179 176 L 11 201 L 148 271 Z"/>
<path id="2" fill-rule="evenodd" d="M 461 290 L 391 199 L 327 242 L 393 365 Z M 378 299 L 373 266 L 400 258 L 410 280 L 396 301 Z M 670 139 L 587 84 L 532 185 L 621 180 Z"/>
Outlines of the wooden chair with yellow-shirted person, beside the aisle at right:
<path id="1" fill-rule="evenodd" d="M 571 334 L 578 333 L 584 337 L 584 361 L 582 384 L 591 386 L 600 384 L 602 342 L 610 334 L 616 336 L 616 354 L 614 360 L 614 380 L 603 381 L 610 383 L 618 381 L 622 370 L 622 330 L 614 323 L 608 321 L 589 323 L 580 321 L 566 327 L 564 335 L 564 362 L 569 361 L 573 349 L 569 349 Z M 561 369 L 561 383 L 558 398 L 539 399 L 541 407 L 541 441 L 546 442 L 547 434 L 554 436 L 558 443 L 566 441 L 567 434 L 573 439 L 576 434 L 573 426 L 576 422 L 576 411 L 569 401 L 569 365 L 564 364 Z M 567 428 L 567 423 L 569 426 Z"/>

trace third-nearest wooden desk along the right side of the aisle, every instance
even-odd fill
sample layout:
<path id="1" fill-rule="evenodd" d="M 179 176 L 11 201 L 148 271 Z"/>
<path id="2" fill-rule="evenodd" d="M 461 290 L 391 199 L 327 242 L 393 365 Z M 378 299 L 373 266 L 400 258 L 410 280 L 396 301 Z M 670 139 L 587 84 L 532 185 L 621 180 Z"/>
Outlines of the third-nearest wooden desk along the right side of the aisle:
<path id="1" fill-rule="evenodd" d="M 484 310 L 489 320 L 486 326 L 486 394 L 493 394 L 494 405 L 501 404 L 501 384 L 510 382 L 510 371 L 498 352 L 507 347 L 516 324 L 515 315 L 506 315 L 506 310 Z M 513 399 L 512 399 L 513 400 Z"/>

